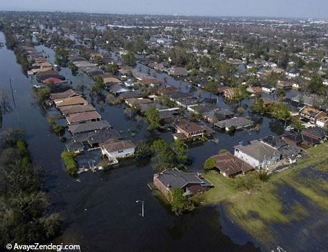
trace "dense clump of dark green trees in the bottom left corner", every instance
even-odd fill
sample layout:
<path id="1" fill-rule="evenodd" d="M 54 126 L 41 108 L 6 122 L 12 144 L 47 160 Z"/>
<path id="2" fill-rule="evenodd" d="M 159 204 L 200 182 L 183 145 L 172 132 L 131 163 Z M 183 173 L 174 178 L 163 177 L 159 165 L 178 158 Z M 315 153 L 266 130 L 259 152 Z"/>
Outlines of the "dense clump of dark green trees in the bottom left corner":
<path id="1" fill-rule="evenodd" d="M 47 242 L 57 235 L 61 226 L 61 217 L 50 211 L 48 195 L 41 191 L 42 170 L 32 166 L 28 145 L 21 137 L 19 133 L 10 141 L 1 139 L 8 143 L 0 151 L 1 247 L 12 241 Z"/>

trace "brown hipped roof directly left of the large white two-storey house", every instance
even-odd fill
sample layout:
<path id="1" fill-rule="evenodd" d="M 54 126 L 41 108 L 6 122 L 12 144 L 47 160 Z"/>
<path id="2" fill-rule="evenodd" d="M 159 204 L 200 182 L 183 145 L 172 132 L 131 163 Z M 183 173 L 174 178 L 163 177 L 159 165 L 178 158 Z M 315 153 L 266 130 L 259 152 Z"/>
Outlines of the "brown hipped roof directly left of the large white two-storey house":
<path id="1" fill-rule="evenodd" d="M 212 156 L 212 158 L 216 161 L 215 167 L 220 169 L 226 176 L 231 176 L 240 172 L 244 173 L 253 169 L 251 165 L 233 156 L 229 151 Z"/>

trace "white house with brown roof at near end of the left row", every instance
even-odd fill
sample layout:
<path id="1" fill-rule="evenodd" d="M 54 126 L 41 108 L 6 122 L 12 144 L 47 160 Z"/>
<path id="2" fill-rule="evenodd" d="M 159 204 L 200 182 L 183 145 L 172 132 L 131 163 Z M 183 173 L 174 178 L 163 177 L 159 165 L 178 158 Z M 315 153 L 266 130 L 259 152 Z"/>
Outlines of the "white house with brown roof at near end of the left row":
<path id="1" fill-rule="evenodd" d="M 119 158 L 127 158 L 135 154 L 135 145 L 130 140 L 110 138 L 100 144 L 102 154 L 107 156 L 110 163 L 117 163 Z"/>

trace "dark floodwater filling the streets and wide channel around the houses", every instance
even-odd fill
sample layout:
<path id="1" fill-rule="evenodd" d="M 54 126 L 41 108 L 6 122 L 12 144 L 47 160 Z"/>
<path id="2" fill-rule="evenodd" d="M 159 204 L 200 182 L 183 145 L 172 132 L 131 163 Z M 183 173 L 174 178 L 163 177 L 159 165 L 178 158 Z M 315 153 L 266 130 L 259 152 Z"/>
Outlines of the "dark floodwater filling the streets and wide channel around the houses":
<path id="1" fill-rule="evenodd" d="M 0 42 L 5 42 L 0 33 Z M 44 46 L 38 46 L 54 60 L 54 52 Z M 90 83 L 88 76 L 78 74 L 72 76 L 68 68 L 62 68 L 61 74 L 73 82 Z M 192 213 L 176 217 L 167 207 L 153 196 L 148 183 L 153 178 L 154 171 L 147 162 L 135 162 L 132 165 L 98 171 L 96 174 L 86 172 L 79 175 L 79 180 L 66 174 L 61 163 L 60 154 L 64 143 L 50 132 L 43 108 L 39 107 L 33 94 L 34 79 L 27 78 L 16 63 L 15 54 L 6 49 L 0 49 L 0 80 L 1 88 L 6 90 L 6 99 L 11 110 L 3 114 L 1 130 L 7 127 L 23 127 L 26 129 L 27 141 L 33 161 L 44 167 L 46 172 L 46 190 L 48 190 L 52 206 L 64 216 L 62 233 L 53 242 L 64 244 L 80 244 L 82 251 L 258 251 L 259 244 L 241 230 L 231 237 L 222 232 L 222 214 L 220 207 L 202 207 Z M 12 78 L 13 102 L 9 78 Z M 182 85 L 168 81 L 172 85 Z M 188 90 L 185 90 L 186 92 Z M 204 94 L 206 95 L 206 94 Z M 150 133 L 144 120 L 139 122 L 124 116 L 124 105 L 110 106 L 94 105 L 103 118 L 113 125 L 117 132 L 122 132 L 125 139 L 133 141 L 150 141 L 164 138 L 170 143 L 171 133 Z M 223 104 L 221 98 L 218 103 Z M 244 101 L 248 104 L 249 101 Z M 50 112 L 52 113 L 52 112 Z M 56 113 L 56 112 L 55 112 Z M 246 112 L 245 112 L 246 113 Z M 260 118 L 261 127 L 258 132 L 237 132 L 234 136 L 215 133 L 219 143 L 207 142 L 189 149 L 193 163 L 191 170 L 202 171 L 204 160 L 219 149 L 233 150 L 240 140 L 248 140 L 276 134 L 282 125 L 276 120 Z M 136 136 L 131 131 L 137 132 Z M 79 165 L 88 160 L 99 158 L 99 152 L 89 152 L 79 158 Z M 139 216 L 141 205 L 136 200 L 144 200 L 145 216 Z M 232 237 L 234 236 L 234 237 Z M 235 242 L 233 242 L 233 240 Z M 253 243 L 252 243 L 253 242 Z M 255 244 L 255 245 L 254 245 Z M 264 248 L 264 246 L 262 246 Z"/>

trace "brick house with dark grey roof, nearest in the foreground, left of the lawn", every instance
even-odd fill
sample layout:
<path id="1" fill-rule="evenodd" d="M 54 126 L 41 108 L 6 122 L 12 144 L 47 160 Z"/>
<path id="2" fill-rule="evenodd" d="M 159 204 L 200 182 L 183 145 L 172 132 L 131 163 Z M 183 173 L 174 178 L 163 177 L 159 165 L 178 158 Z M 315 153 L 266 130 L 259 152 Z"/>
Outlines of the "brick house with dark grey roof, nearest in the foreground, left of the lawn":
<path id="1" fill-rule="evenodd" d="M 213 185 L 197 172 L 186 172 L 178 169 L 166 169 L 155 174 L 153 184 L 170 200 L 171 190 L 181 188 L 185 196 L 203 193 Z"/>

